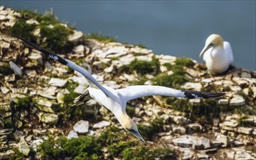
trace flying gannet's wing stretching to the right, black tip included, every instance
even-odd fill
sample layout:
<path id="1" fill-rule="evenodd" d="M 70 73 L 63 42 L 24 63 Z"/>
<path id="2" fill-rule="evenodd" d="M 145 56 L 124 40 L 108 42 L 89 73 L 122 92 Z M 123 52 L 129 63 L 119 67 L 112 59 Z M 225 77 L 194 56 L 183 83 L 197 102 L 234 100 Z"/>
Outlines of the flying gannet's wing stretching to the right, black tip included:
<path id="1" fill-rule="evenodd" d="M 130 86 L 123 89 L 117 89 L 126 101 L 133 100 L 138 97 L 150 96 L 150 95 L 163 95 L 171 97 L 187 97 L 189 99 L 199 97 L 199 98 L 214 98 L 225 95 L 225 93 L 211 93 L 211 92 L 198 92 L 198 91 L 185 91 L 179 89 L 172 89 L 162 86 Z"/>

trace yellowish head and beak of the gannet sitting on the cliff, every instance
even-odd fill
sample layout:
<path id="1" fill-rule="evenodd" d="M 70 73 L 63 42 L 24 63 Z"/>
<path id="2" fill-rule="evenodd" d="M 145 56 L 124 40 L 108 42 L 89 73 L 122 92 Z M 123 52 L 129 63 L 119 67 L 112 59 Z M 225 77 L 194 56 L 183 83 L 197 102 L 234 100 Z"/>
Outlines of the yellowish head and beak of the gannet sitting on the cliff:
<path id="1" fill-rule="evenodd" d="M 204 45 L 199 57 L 203 57 L 204 52 L 206 52 L 208 49 L 212 47 L 223 47 L 223 39 L 218 34 L 211 34 L 206 39 L 206 44 Z"/>

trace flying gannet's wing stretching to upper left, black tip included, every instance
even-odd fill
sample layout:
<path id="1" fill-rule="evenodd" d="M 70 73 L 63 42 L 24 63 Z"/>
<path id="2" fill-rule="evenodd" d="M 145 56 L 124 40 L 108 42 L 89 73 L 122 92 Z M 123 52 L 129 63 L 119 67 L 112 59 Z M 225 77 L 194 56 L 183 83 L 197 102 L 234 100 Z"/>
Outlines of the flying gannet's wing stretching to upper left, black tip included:
<path id="1" fill-rule="evenodd" d="M 89 79 L 89 81 L 91 81 L 93 84 L 95 84 L 99 89 L 102 90 L 102 92 L 105 93 L 106 96 L 108 97 L 114 97 L 114 95 L 112 94 L 112 92 L 110 92 L 108 89 L 106 89 L 104 86 L 102 86 L 101 84 L 98 83 L 98 81 L 96 81 L 96 79 L 93 78 L 93 76 L 90 75 L 90 73 L 88 73 L 88 71 L 86 71 L 84 68 L 80 67 L 79 65 L 71 62 L 70 60 L 67 60 L 63 57 L 60 57 L 58 55 L 53 54 L 52 52 L 47 51 L 46 49 L 39 47 L 38 45 L 32 43 L 31 41 L 27 41 L 26 39 L 23 39 L 20 36 L 16 36 L 15 34 L 12 34 L 12 36 L 17 37 L 18 39 L 24 41 L 26 44 L 28 44 L 30 47 L 38 50 L 39 52 L 42 52 L 44 55 L 47 55 L 51 58 L 53 58 L 54 60 L 58 60 L 58 62 L 60 62 L 63 65 L 68 66 L 69 68 L 74 69 L 75 71 L 78 71 L 79 73 L 82 73 L 83 76 L 85 76 L 87 79 Z"/>

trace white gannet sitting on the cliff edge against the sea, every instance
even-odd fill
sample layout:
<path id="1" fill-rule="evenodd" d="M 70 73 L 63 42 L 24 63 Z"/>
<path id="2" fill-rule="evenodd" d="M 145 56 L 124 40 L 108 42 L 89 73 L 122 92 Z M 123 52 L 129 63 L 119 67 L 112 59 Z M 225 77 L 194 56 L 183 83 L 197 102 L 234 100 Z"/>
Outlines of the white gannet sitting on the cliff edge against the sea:
<path id="1" fill-rule="evenodd" d="M 199 57 L 203 57 L 209 71 L 223 73 L 233 63 L 233 52 L 228 41 L 223 41 L 218 34 L 212 34 L 206 39 Z"/>

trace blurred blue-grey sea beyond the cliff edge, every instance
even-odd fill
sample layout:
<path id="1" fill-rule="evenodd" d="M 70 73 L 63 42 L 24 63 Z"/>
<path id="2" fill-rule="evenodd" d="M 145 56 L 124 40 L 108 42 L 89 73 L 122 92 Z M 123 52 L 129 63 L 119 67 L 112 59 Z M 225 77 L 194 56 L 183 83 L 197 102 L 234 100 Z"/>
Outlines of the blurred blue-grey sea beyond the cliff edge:
<path id="1" fill-rule="evenodd" d="M 53 9 L 59 20 L 84 33 L 144 44 L 155 54 L 198 55 L 206 38 L 218 33 L 233 47 L 235 65 L 256 71 L 255 1 L 9 1 L 1 6 Z"/>

